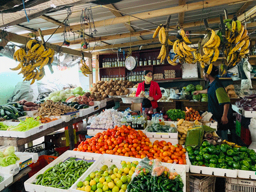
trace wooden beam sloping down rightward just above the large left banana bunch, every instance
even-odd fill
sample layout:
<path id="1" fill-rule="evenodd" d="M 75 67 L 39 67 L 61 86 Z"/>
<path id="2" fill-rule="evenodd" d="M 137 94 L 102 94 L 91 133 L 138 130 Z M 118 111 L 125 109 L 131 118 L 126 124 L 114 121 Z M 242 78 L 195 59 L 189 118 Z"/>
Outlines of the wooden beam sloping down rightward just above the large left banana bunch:
<path id="1" fill-rule="evenodd" d="M 5 33 L 5 32 L 0 30 L 0 33 Z M 10 33 L 10 32 L 8 32 L 5 39 L 12 41 L 12 42 L 16 42 L 18 44 L 23 44 L 23 45 L 26 45 L 27 42 L 29 40 L 31 40 L 31 38 L 29 38 L 29 37 L 24 37 L 24 36 L 15 34 L 15 33 Z M 49 48 L 52 48 L 55 52 L 59 51 L 62 53 L 67 53 L 70 55 L 75 55 L 75 56 L 81 57 L 81 51 L 77 51 L 77 50 L 69 49 L 69 48 L 65 48 L 65 47 L 59 47 L 57 45 L 49 44 L 49 42 L 46 43 L 46 46 Z M 83 52 L 83 55 L 84 55 L 84 57 L 92 58 L 91 53 Z"/>

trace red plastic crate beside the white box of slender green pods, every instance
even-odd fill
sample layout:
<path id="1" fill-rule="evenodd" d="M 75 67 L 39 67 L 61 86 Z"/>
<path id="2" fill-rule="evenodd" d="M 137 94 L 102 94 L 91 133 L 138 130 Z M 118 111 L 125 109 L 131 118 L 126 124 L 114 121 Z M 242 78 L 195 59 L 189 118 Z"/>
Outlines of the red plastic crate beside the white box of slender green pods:
<path id="1" fill-rule="evenodd" d="M 37 172 L 39 172 L 39 170 L 50 164 L 56 158 L 57 157 L 55 156 L 41 155 L 36 163 L 32 163 L 29 165 L 31 167 L 31 171 L 28 173 L 29 177 L 35 175 Z"/>

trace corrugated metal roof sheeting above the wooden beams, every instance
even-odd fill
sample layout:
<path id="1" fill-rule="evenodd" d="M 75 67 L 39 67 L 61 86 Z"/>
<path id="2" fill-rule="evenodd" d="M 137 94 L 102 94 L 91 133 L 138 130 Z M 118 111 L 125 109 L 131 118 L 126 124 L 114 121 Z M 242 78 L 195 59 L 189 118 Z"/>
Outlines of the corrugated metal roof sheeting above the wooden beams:
<path id="1" fill-rule="evenodd" d="M 223 0 L 224 1 L 224 0 Z M 138 1 L 138 0 L 123 0 L 121 2 L 118 2 L 114 4 L 114 6 L 120 10 L 121 12 L 124 12 L 126 14 L 135 14 L 135 13 L 140 13 L 140 12 L 145 12 L 145 11 L 152 11 L 152 10 L 158 10 L 162 8 L 167 8 L 167 7 L 175 7 L 178 6 L 178 0 L 163 0 L 163 1 Z M 195 2 L 202 2 L 202 0 L 187 0 L 186 3 L 195 3 Z M 219 17 L 219 14 L 223 14 L 223 9 L 227 9 L 228 13 L 230 15 L 235 14 L 243 5 L 243 3 L 239 4 L 233 4 L 233 5 L 223 5 L 223 6 L 218 6 L 218 7 L 212 7 L 212 8 L 205 8 L 203 10 L 196 10 L 196 11 L 189 11 L 185 12 L 184 14 L 184 23 L 191 23 L 195 21 L 200 21 L 202 20 L 202 26 L 197 26 L 193 28 L 189 28 L 189 30 L 193 31 L 200 31 L 200 30 L 205 30 L 203 26 L 203 18 L 215 18 Z M 250 9 L 251 7 L 256 5 L 256 1 L 253 1 L 251 5 L 246 9 Z M 187 5 L 184 5 L 187 6 Z M 86 8 L 92 8 L 92 14 L 93 14 L 93 19 L 94 22 L 104 20 L 104 19 L 109 19 L 109 18 L 115 18 L 115 16 L 110 12 L 109 9 L 95 5 L 95 4 L 82 4 L 82 5 L 76 5 L 71 8 L 72 14 L 69 17 L 69 23 L 70 25 L 79 25 L 80 24 L 80 16 L 82 13 L 82 9 Z M 170 13 L 172 14 L 172 13 Z M 60 10 L 52 13 L 46 14 L 47 16 L 50 16 L 59 22 L 62 22 L 63 19 L 66 18 L 67 16 L 67 10 Z M 155 18 L 150 18 L 146 19 L 148 22 L 155 23 L 157 25 L 163 24 L 166 22 L 166 16 L 161 16 L 161 17 L 155 17 Z M 170 26 L 176 25 L 178 22 L 178 14 L 172 14 L 172 17 L 170 19 Z M 25 27 L 29 27 L 32 29 L 38 29 L 40 27 L 41 30 L 46 30 L 46 29 L 52 29 L 52 28 L 57 28 L 57 25 L 52 24 L 50 22 L 47 22 L 44 19 L 41 18 L 35 18 L 31 19 L 30 22 L 24 22 L 20 25 L 23 25 Z M 142 31 L 142 30 L 151 30 L 156 28 L 157 26 L 151 23 L 147 23 L 143 20 L 135 20 L 131 22 L 131 25 L 134 25 L 136 27 L 133 27 L 136 31 Z M 218 28 L 218 24 L 209 24 L 211 28 Z M 143 28 L 143 29 L 142 29 Z M 63 29 L 64 30 L 64 29 Z M 124 24 L 117 24 L 117 25 L 110 25 L 110 26 L 102 26 L 102 27 L 97 27 L 97 34 L 96 36 L 106 36 L 106 35 L 115 35 L 115 34 L 122 34 L 122 33 L 129 33 L 129 30 L 124 26 Z M 14 32 L 17 34 L 22 34 L 22 33 L 28 33 L 30 31 L 27 30 L 22 30 L 20 28 L 17 28 L 16 26 L 11 26 L 7 29 L 9 32 Z M 89 30 L 85 31 L 86 33 L 89 33 Z M 48 39 L 50 35 L 46 35 L 45 39 Z M 151 39 L 152 35 L 143 35 L 141 36 L 143 39 Z M 69 40 L 74 40 L 74 36 L 72 33 L 68 33 L 68 39 Z M 75 34 L 75 39 L 79 39 L 78 34 Z M 136 37 L 132 37 L 131 41 L 137 41 L 138 39 Z M 61 33 L 59 34 L 54 34 L 51 39 L 48 42 L 62 42 L 63 41 L 63 36 Z M 129 42 L 130 38 L 122 38 L 122 39 L 114 39 L 114 40 L 107 40 L 105 42 L 108 42 L 109 44 L 120 44 L 124 42 Z M 96 45 L 99 45 L 97 43 Z M 90 46 L 95 46 L 95 42 L 91 42 Z M 77 45 L 71 45 L 69 48 L 72 49 L 80 49 L 80 44 Z"/>

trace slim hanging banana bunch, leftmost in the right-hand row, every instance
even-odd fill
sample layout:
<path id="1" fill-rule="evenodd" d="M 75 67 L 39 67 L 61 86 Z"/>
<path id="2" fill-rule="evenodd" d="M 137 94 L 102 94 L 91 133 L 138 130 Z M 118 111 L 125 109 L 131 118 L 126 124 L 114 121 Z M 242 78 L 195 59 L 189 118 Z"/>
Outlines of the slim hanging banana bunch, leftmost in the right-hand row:
<path id="1" fill-rule="evenodd" d="M 165 45 L 166 34 L 165 34 L 165 27 L 163 25 L 160 25 L 157 27 L 155 33 L 153 34 L 153 38 L 156 38 L 157 35 L 158 35 L 159 42 L 162 44 L 162 47 L 161 47 L 161 50 L 160 50 L 160 53 L 159 53 L 157 59 L 161 59 L 160 63 L 162 63 L 167 54 L 166 53 L 167 49 L 166 49 L 166 45 Z M 170 41 L 170 39 L 167 39 L 167 46 L 172 46 L 172 45 L 174 45 L 174 43 L 172 41 Z M 167 60 L 169 60 L 169 58 L 170 58 L 170 56 L 167 57 Z M 175 65 L 177 65 L 177 64 L 175 63 Z"/>

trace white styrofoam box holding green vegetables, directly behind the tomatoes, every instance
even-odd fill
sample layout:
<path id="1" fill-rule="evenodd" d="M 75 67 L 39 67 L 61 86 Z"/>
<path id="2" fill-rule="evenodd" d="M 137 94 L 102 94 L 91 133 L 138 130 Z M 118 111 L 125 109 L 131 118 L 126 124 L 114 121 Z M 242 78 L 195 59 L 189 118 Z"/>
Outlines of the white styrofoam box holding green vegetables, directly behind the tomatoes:
<path id="1" fill-rule="evenodd" d="M 177 122 L 174 121 L 164 121 L 165 125 L 174 124 L 177 127 Z M 178 132 L 176 133 L 158 133 L 158 132 L 147 132 L 147 127 L 151 126 L 152 121 L 147 124 L 145 129 L 145 135 L 147 138 L 170 138 L 170 139 L 178 139 Z"/>

